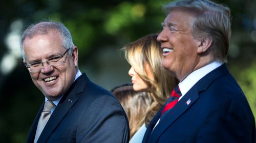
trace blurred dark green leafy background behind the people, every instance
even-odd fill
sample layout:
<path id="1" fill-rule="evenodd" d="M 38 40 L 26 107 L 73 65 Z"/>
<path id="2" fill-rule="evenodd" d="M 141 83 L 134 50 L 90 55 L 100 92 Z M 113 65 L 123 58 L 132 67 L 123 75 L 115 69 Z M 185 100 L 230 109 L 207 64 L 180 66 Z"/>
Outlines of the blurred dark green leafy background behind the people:
<path id="1" fill-rule="evenodd" d="M 24 28 L 43 19 L 69 28 L 79 49 L 79 69 L 110 90 L 131 82 L 130 66 L 119 50 L 141 36 L 161 31 L 166 0 L 67 1 L 4 0 L 0 6 L 0 138 L 25 142 L 44 96 L 22 63 L 19 38 Z M 232 13 L 228 67 L 256 114 L 256 2 L 219 0 Z"/>

